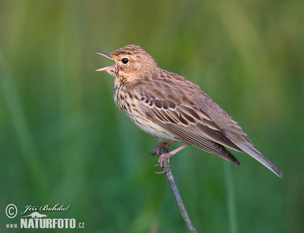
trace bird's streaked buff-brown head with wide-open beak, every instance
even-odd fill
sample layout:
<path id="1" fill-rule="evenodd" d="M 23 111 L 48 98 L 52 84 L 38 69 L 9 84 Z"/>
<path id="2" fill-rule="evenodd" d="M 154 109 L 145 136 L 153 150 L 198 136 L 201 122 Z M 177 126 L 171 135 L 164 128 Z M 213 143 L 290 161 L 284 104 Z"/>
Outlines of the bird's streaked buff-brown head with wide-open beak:
<path id="1" fill-rule="evenodd" d="M 96 53 L 115 61 L 115 64 L 95 71 L 107 71 L 127 83 L 145 76 L 148 72 L 153 72 L 157 68 L 154 59 L 146 51 L 135 45 L 125 46 L 112 53 Z"/>

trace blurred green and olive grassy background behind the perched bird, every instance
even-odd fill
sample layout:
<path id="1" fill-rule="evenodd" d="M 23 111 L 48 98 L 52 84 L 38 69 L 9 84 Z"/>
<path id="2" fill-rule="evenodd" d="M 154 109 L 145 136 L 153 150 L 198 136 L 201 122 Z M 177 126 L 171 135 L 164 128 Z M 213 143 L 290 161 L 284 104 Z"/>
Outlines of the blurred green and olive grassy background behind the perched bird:
<path id="1" fill-rule="evenodd" d="M 69 231 L 187 232 L 166 175 L 154 173 L 157 140 L 113 104 L 113 77 L 93 72 L 112 64 L 95 51 L 130 44 L 199 85 L 284 173 L 238 152 L 240 168 L 183 149 L 170 162 L 198 232 L 304 232 L 303 7 L 0 1 L 1 232 L 14 232 L 5 224 L 25 206 L 57 203 L 71 206 L 49 217 L 85 223 Z"/>

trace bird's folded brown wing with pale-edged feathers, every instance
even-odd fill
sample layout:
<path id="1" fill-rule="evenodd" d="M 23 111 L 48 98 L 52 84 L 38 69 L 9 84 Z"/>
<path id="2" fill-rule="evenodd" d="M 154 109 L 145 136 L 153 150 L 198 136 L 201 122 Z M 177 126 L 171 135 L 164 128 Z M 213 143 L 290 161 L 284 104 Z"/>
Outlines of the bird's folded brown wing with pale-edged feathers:
<path id="1" fill-rule="evenodd" d="M 150 93 L 141 94 L 147 117 L 182 140 L 238 166 L 239 161 L 223 145 L 242 151 L 227 138 L 200 108 L 175 104 Z"/>

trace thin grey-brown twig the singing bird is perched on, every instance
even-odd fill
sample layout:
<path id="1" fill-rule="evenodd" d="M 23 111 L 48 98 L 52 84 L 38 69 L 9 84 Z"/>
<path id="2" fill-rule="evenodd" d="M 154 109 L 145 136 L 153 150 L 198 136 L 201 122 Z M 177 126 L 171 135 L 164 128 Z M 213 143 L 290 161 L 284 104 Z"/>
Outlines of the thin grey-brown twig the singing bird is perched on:
<path id="1" fill-rule="evenodd" d="M 161 151 L 161 154 L 164 154 L 164 153 L 167 152 L 165 147 L 161 147 L 160 151 Z M 171 190 L 173 192 L 173 195 L 175 197 L 176 203 L 178 205 L 178 209 L 180 211 L 180 214 L 181 214 L 184 222 L 186 223 L 186 226 L 187 226 L 189 232 L 197 232 L 197 230 L 194 228 L 194 226 L 193 226 L 193 224 L 192 224 L 192 222 L 191 222 L 191 220 L 190 220 L 190 218 L 187 214 L 186 208 L 185 208 L 185 206 L 184 206 L 184 204 L 181 200 L 179 191 L 178 191 L 176 183 L 175 183 L 175 179 L 174 179 L 172 171 L 171 171 L 171 166 L 169 165 L 167 159 L 165 159 L 163 163 L 164 163 L 164 169 L 165 169 L 165 172 L 167 174 L 168 181 L 169 181 Z"/>

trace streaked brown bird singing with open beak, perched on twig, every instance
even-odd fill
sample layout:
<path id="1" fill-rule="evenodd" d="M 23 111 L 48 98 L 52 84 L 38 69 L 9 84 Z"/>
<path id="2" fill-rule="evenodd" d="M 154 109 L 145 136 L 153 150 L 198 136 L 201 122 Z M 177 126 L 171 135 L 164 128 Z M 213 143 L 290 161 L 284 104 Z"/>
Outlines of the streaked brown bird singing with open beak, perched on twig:
<path id="1" fill-rule="evenodd" d="M 159 165 L 194 145 L 240 166 L 227 149 L 245 152 L 282 178 L 282 172 L 254 146 L 239 124 L 201 88 L 158 67 L 142 48 L 128 45 L 112 53 L 96 52 L 115 62 L 95 71 L 115 76 L 114 101 L 144 132 L 168 140 L 158 144 Z M 161 154 L 175 142 L 182 146 Z M 227 148 L 226 148 L 227 147 Z"/>

